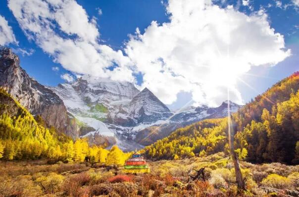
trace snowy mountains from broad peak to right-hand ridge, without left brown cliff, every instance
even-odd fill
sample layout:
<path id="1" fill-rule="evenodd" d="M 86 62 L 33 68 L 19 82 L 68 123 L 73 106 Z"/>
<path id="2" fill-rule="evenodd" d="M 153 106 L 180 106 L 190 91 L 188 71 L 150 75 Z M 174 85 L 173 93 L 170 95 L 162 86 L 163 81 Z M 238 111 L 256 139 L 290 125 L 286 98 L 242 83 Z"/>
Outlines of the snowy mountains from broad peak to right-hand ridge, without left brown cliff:
<path id="1" fill-rule="evenodd" d="M 228 103 L 209 108 L 188 107 L 173 114 L 148 88 L 133 83 L 82 76 L 73 83 L 50 87 L 91 143 L 117 144 L 124 150 L 149 145 L 176 128 L 205 118 L 227 116 Z M 230 102 L 231 112 L 240 106 Z"/>

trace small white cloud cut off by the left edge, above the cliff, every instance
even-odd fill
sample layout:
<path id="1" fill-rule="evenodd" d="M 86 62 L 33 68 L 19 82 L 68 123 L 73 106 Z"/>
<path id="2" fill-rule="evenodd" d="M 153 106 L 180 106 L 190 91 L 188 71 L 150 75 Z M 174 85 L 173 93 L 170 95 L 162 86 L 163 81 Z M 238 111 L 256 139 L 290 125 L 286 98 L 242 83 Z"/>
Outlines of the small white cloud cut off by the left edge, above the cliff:
<path id="1" fill-rule="evenodd" d="M 0 44 L 18 43 L 13 34 L 12 28 L 3 16 L 0 15 Z"/>

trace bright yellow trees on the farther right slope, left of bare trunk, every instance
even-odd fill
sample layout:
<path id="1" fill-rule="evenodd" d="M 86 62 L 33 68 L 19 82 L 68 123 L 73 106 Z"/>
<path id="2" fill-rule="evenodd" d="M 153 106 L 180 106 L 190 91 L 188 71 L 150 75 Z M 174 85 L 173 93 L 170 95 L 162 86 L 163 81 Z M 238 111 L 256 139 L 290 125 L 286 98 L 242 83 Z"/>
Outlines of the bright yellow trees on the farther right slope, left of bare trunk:
<path id="1" fill-rule="evenodd" d="M 208 149 L 208 154 L 223 151 L 227 140 L 226 129 L 226 118 L 206 119 L 179 128 L 170 136 L 146 147 L 145 155 L 150 158 L 172 159 L 175 155 L 179 158 L 195 157 L 202 149 Z"/>

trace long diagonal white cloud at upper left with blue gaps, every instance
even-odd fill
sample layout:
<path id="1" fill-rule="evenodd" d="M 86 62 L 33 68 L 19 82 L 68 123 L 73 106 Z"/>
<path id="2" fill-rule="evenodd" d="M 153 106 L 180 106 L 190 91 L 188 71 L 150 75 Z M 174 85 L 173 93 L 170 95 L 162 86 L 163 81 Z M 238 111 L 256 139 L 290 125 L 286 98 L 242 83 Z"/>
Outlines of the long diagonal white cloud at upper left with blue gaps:
<path id="1" fill-rule="evenodd" d="M 75 0 L 8 0 L 23 32 L 73 73 L 131 80 L 129 59 L 99 43 L 96 20 Z M 107 68 L 116 63 L 111 72 Z"/>

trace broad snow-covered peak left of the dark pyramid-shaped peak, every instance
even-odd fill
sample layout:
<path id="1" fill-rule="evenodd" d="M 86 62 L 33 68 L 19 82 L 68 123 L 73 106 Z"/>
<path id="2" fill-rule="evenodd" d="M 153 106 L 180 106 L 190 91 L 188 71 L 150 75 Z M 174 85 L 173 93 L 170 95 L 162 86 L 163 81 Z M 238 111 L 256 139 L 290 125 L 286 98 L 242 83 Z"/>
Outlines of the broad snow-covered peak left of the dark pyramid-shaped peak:
<path id="1" fill-rule="evenodd" d="M 126 124 L 128 104 L 140 91 L 129 82 L 82 76 L 73 83 L 49 87 L 81 124 L 80 136 L 89 132 L 114 136 L 106 123 Z"/>

